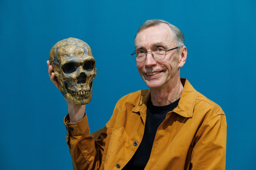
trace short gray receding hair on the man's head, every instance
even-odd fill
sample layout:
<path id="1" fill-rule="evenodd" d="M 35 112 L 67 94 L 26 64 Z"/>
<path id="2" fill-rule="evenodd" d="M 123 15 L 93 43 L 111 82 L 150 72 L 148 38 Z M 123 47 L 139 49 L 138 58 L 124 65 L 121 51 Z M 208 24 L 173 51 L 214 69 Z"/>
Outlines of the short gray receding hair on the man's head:
<path id="1" fill-rule="evenodd" d="M 135 38 L 136 38 L 136 36 L 138 35 L 138 33 L 140 31 L 142 31 L 142 30 L 144 30 L 146 28 L 155 26 L 155 25 L 159 25 L 161 23 L 167 24 L 171 28 L 171 31 L 173 32 L 173 35 L 174 35 L 173 36 L 173 40 L 174 40 L 175 44 L 177 46 L 184 46 L 184 44 L 185 44 L 185 37 L 184 37 L 183 33 L 181 32 L 181 30 L 179 28 L 177 28 L 176 26 L 170 24 L 169 22 L 164 21 L 164 20 L 159 20 L 159 19 L 147 20 L 146 22 L 144 22 L 139 27 L 139 30 L 137 31 L 137 33 L 135 35 Z M 135 42 L 135 39 L 134 39 L 134 42 Z"/>

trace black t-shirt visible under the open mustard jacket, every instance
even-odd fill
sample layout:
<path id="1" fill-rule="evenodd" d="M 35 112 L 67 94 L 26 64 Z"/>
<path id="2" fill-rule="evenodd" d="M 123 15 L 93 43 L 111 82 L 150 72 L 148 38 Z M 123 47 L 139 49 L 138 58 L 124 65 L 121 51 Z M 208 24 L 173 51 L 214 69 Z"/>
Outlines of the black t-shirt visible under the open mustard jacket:
<path id="1" fill-rule="evenodd" d="M 147 104 L 145 132 L 142 142 L 123 170 L 144 170 L 149 161 L 157 128 L 164 121 L 166 114 L 178 106 L 179 100 L 180 99 L 166 106 L 154 106 L 151 100 L 149 100 Z"/>

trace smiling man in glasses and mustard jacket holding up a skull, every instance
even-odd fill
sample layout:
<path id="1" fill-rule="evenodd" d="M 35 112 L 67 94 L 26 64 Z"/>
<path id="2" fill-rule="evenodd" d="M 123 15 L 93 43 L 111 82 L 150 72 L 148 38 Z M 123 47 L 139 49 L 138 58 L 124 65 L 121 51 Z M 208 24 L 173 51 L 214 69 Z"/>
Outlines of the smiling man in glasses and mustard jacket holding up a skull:
<path id="1" fill-rule="evenodd" d="M 132 55 L 149 90 L 122 97 L 104 128 L 91 135 L 85 106 L 67 101 L 64 123 L 74 169 L 225 169 L 226 117 L 180 78 L 187 57 L 182 32 L 166 21 L 146 21 Z M 52 70 L 50 80 L 58 87 Z"/>

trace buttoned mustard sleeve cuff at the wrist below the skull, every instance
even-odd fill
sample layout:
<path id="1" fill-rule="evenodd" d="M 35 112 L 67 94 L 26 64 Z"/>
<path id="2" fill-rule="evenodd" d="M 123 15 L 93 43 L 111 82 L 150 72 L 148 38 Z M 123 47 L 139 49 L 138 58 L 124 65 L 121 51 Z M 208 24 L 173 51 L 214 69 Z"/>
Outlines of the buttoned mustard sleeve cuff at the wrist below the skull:
<path id="1" fill-rule="evenodd" d="M 89 130 L 88 119 L 85 113 L 85 117 L 81 121 L 76 123 L 69 123 L 69 115 L 67 114 L 64 118 L 64 124 L 70 135 L 77 136 L 82 135 L 84 132 Z"/>

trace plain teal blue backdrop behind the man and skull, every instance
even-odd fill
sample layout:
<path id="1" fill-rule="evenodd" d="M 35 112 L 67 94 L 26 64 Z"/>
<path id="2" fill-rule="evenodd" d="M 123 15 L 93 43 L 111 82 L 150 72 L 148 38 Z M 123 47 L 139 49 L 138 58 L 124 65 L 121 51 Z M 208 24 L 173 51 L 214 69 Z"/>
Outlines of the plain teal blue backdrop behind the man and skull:
<path id="1" fill-rule="evenodd" d="M 185 35 L 181 77 L 226 113 L 226 169 L 252 170 L 255 9 L 255 0 L 1 0 L 0 169 L 72 169 L 63 123 L 67 105 L 47 73 L 56 42 L 75 37 L 92 48 L 97 76 L 86 112 L 94 132 L 120 97 L 147 88 L 130 54 L 139 26 L 159 18 Z"/>

